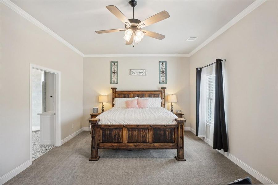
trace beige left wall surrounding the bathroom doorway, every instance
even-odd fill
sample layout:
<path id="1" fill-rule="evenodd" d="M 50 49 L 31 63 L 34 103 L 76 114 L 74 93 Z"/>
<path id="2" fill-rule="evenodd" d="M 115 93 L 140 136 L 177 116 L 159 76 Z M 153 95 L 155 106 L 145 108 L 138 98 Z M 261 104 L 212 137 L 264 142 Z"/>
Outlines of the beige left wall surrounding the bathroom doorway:
<path id="1" fill-rule="evenodd" d="M 81 128 L 83 58 L 2 3 L 0 10 L 1 177 L 30 158 L 30 63 L 61 71 L 63 139 Z"/>

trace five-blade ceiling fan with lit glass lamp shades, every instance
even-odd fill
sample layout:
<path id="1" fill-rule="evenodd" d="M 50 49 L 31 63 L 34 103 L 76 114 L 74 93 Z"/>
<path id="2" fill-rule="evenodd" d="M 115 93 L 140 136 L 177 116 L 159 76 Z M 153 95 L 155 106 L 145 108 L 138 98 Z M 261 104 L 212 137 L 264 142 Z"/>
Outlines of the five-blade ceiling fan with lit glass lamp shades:
<path id="1" fill-rule="evenodd" d="M 134 7 L 137 5 L 137 1 L 131 0 L 129 2 L 130 6 L 132 7 L 132 19 L 127 19 L 124 14 L 114 5 L 106 6 L 106 8 L 114 14 L 120 21 L 122 21 L 126 26 L 125 29 L 113 29 L 113 30 L 100 30 L 95 31 L 96 33 L 112 33 L 112 32 L 118 32 L 118 31 L 125 31 L 125 36 L 123 39 L 126 40 L 126 45 L 131 45 L 134 43 L 139 43 L 144 35 L 147 35 L 149 37 L 155 38 L 155 39 L 164 39 L 165 35 L 161 35 L 156 32 L 142 30 L 143 27 L 149 26 L 151 24 L 157 23 L 159 21 L 162 21 L 164 19 L 167 19 L 170 17 L 167 11 L 162 11 L 158 14 L 155 14 L 148 19 L 144 21 L 140 21 L 138 19 L 134 19 Z"/>

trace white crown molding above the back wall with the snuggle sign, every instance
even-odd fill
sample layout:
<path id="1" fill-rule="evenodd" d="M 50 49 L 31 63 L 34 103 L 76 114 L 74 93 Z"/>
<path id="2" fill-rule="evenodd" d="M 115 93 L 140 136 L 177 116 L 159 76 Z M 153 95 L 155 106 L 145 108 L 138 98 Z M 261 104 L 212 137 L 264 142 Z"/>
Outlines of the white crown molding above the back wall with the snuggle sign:
<path id="1" fill-rule="evenodd" d="M 160 57 L 189 57 L 188 54 L 104 54 L 104 55 L 84 55 L 83 57 L 139 57 L 139 56 L 160 56 Z"/>

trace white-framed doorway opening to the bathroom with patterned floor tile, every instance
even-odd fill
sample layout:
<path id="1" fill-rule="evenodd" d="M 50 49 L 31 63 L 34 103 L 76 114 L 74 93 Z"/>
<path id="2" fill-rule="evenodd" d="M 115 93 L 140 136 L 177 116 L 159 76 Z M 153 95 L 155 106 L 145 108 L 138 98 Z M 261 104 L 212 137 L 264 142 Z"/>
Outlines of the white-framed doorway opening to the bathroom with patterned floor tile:
<path id="1" fill-rule="evenodd" d="M 30 161 L 60 146 L 60 72 L 30 64 Z"/>

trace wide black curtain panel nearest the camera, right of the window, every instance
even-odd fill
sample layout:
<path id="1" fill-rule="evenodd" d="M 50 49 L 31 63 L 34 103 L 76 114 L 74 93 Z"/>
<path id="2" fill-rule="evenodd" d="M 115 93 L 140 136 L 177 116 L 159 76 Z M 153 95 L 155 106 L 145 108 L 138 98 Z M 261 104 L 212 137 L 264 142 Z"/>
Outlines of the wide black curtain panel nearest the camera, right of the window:
<path id="1" fill-rule="evenodd" d="M 223 149 L 224 152 L 228 151 L 221 59 L 216 59 L 215 62 L 215 103 L 214 103 L 213 148 L 218 150 Z"/>

